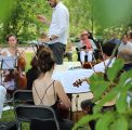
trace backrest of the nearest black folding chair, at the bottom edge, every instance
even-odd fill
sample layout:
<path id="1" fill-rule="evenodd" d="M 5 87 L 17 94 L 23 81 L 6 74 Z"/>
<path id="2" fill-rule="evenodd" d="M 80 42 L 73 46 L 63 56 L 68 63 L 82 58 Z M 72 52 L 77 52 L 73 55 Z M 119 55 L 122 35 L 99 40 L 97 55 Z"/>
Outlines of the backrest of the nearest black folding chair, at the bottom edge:
<path id="1" fill-rule="evenodd" d="M 38 122 L 42 121 L 42 123 L 43 123 L 42 127 L 44 127 L 44 129 L 60 130 L 55 112 L 51 107 L 19 104 L 15 107 L 15 113 L 16 113 L 16 120 L 17 120 L 18 125 L 21 125 L 23 121 L 31 122 L 31 120 L 38 120 Z M 39 126 L 39 127 L 41 127 L 41 126 Z M 34 128 L 34 130 L 35 130 L 35 128 Z"/>

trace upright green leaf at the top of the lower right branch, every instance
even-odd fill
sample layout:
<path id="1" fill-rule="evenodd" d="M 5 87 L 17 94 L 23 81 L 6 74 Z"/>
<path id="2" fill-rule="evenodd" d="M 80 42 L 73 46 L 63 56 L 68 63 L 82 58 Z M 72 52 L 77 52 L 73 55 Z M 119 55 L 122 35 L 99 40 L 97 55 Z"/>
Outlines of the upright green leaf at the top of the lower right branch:
<path id="1" fill-rule="evenodd" d="M 122 60 L 116 60 L 113 67 L 107 69 L 107 77 L 110 81 L 114 81 L 118 76 L 119 70 L 123 67 Z"/>

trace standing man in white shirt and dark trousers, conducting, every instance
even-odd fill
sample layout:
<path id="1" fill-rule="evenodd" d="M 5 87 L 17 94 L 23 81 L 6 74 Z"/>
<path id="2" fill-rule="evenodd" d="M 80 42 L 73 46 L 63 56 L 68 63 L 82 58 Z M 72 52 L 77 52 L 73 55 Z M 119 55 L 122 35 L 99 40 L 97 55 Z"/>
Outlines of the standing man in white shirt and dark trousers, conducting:
<path id="1" fill-rule="evenodd" d="M 56 64 L 63 64 L 63 57 L 68 39 L 69 29 L 69 12 L 61 0 L 48 0 L 53 8 L 52 22 L 49 28 L 49 37 L 44 42 L 49 42 L 49 47 L 53 51 Z M 39 21 L 47 24 L 47 18 L 38 16 Z"/>

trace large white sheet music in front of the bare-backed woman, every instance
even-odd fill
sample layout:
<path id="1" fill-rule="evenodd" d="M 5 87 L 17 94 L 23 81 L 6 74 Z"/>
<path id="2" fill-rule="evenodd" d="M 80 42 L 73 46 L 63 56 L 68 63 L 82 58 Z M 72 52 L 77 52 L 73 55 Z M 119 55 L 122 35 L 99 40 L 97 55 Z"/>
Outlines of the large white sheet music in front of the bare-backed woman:
<path id="1" fill-rule="evenodd" d="M 54 72 L 52 78 L 62 82 L 66 93 L 81 93 L 90 91 L 90 86 L 85 81 L 79 88 L 74 87 L 72 83 L 78 79 L 89 78 L 92 74 L 92 69 L 70 69 Z"/>

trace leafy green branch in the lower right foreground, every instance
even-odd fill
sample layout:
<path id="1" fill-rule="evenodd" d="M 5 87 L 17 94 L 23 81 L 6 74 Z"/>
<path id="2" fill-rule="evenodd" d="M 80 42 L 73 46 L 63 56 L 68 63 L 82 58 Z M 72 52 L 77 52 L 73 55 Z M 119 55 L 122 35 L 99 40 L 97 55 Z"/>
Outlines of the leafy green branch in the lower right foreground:
<path id="1" fill-rule="evenodd" d="M 132 105 L 128 104 L 128 93 L 132 93 L 132 69 L 120 74 L 123 66 L 121 60 L 116 60 L 111 68 L 108 68 L 107 75 L 96 74 L 90 78 L 90 89 L 94 94 L 94 102 L 100 102 L 93 108 L 93 115 L 87 115 L 81 118 L 74 127 L 77 130 L 79 126 L 88 123 L 90 120 L 96 120 L 96 130 L 128 130 L 132 129 Z M 119 76 L 120 74 L 120 76 Z M 106 78 L 107 77 L 107 78 Z M 97 86 L 98 84 L 98 86 Z M 111 87 L 110 89 L 108 87 Z M 108 89 L 108 92 L 106 90 Z M 102 94 L 105 93 L 102 98 Z M 109 101 L 116 101 L 115 112 L 101 113 L 103 105 Z M 130 99 L 132 101 L 132 98 Z"/>

